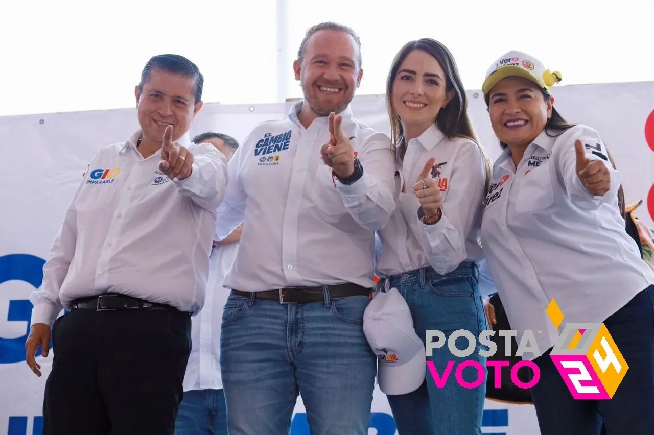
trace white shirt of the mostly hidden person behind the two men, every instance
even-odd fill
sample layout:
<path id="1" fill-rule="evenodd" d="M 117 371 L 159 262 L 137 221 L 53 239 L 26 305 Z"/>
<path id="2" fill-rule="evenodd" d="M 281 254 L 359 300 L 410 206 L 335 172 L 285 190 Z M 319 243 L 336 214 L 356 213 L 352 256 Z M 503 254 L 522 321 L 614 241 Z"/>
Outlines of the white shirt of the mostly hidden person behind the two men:
<path id="1" fill-rule="evenodd" d="M 219 245 L 211 251 L 209 282 L 204 308 L 191 318 L 191 353 L 184 391 L 222 389 L 220 377 L 220 323 L 230 289 L 222 286 L 234 262 L 239 242 Z"/>

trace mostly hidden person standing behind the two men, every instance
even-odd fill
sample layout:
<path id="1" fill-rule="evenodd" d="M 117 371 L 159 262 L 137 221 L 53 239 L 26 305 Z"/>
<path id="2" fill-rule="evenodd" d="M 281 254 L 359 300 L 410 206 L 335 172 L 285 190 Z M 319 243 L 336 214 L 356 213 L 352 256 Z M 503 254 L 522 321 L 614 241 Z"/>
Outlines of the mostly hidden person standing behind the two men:
<path id="1" fill-rule="evenodd" d="M 193 138 L 209 143 L 230 161 L 239 148 L 235 138 L 207 132 Z M 220 315 L 229 289 L 222 287 L 241 239 L 241 227 L 213 242 L 207 298 L 202 311 L 191 319 L 191 354 L 184 376 L 184 398 L 175 420 L 175 435 L 227 435 L 227 410 L 220 379 Z"/>

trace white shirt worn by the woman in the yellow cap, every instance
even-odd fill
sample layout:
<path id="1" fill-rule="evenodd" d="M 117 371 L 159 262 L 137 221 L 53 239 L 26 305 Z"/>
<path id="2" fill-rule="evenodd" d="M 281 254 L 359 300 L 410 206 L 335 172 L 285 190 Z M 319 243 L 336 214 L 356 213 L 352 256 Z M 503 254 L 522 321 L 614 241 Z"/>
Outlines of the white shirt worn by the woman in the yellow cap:
<path id="1" fill-rule="evenodd" d="M 575 140 L 604 161 L 611 189 L 591 195 L 576 173 Z M 559 339 L 545 310 L 557 300 L 568 323 L 601 323 L 654 283 L 625 231 L 617 191 L 621 174 L 596 131 L 577 125 L 541 133 L 515 168 L 506 148 L 494 164 L 481 240 L 511 327 L 532 330 L 540 353 Z M 539 355 L 525 354 L 534 359 Z"/>

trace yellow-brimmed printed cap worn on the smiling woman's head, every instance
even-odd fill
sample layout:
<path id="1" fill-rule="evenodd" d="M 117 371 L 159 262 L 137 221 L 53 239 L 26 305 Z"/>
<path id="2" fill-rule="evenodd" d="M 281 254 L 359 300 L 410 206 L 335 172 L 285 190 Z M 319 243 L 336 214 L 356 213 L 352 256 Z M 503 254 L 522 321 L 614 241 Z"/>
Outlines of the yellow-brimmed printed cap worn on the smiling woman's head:
<path id="1" fill-rule="evenodd" d="M 526 78 L 547 93 L 551 93 L 551 86 L 559 83 L 562 78 L 559 71 L 552 72 L 545 69 L 543 63 L 536 57 L 513 50 L 503 54 L 490 66 L 481 91 L 484 95 L 488 95 L 493 86 L 510 76 Z"/>

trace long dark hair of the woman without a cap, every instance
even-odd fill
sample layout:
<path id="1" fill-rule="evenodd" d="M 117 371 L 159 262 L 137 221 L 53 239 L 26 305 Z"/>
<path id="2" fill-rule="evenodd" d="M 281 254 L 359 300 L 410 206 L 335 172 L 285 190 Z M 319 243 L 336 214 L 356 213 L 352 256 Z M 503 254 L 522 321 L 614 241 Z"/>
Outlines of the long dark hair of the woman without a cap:
<path id="1" fill-rule="evenodd" d="M 404 47 L 400 49 L 393 59 L 386 82 L 386 106 L 388 118 L 390 118 L 392 145 L 394 148 L 397 148 L 398 144 L 404 138 L 402 122 L 393 106 L 393 83 L 395 82 L 402 62 L 404 62 L 404 59 L 415 50 L 422 50 L 438 61 L 445 72 L 445 92 L 450 92 L 452 90 L 455 91 L 456 96 L 447 103 L 444 108 L 439 110 L 435 122 L 441 133 L 443 133 L 447 138 L 462 137 L 472 140 L 472 142 L 475 142 L 475 144 L 479 146 L 481 153 L 483 153 L 486 165 L 487 180 L 486 188 L 484 189 L 484 191 L 486 191 L 490 182 L 492 165 L 490 164 L 490 159 L 487 153 L 483 147 L 479 145 L 479 140 L 477 140 L 477 135 L 475 135 L 472 122 L 470 121 L 470 116 L 468 116 L 468 97 L 466 97 L 466 89 L 464 88 L 458 73 L 458 67 L 456 67 L 454 56 L 452 56 L 446 46 L 437 40 L 422 38 L 409 41 L 404 44 Z"/>

